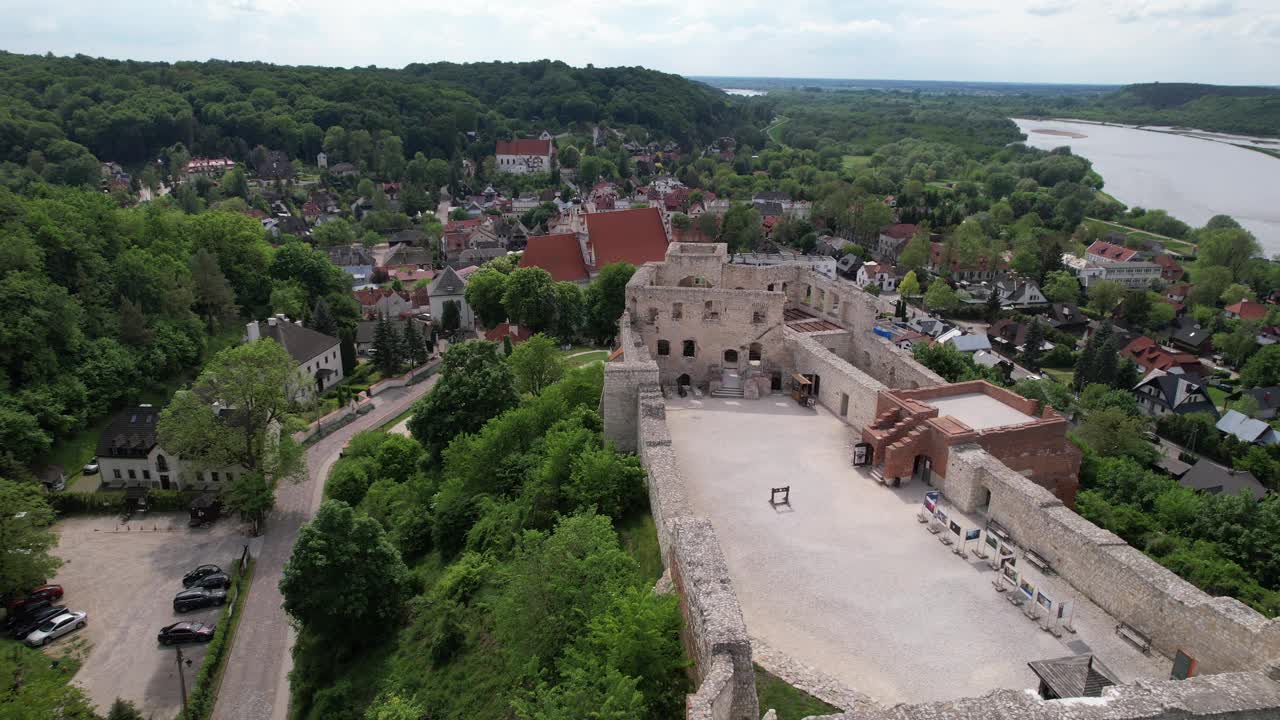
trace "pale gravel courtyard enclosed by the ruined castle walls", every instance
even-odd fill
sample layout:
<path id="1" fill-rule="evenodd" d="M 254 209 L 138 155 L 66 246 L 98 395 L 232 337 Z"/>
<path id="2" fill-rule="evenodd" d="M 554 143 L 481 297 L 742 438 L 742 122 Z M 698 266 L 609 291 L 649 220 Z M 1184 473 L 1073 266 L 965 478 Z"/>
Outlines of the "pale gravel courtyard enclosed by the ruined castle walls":
<path id="1" fill-rule="evenodd" d="M 887 488 L 850 465 L 850 428 L 824 409 L 781 395 L 671 398 L 667 423 L 748 632 L 849 689 L 884 705 L 1034 689 L 1029 661 L 1087 652 L 1125 683 L 1169 676 L 1169 660 L 1116 637 L 1115 620 L 1060 578 L 1033 574 L 1076 602 L 1076 634 L 1041 630 L 992 588 L 984 561 L 960 559 L 916 521 L 925 487 Z M 778 486 L 791 486 L 790 506 L 769 505 Z"/>

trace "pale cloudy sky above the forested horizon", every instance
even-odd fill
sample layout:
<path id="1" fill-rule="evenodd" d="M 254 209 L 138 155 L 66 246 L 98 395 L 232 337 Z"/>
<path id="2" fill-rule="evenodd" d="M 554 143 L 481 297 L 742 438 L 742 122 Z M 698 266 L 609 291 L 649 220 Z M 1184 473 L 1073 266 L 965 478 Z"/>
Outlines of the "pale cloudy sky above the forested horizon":
<path id="1" fill-rule="evenodd" d="M 0 0 L 0 49 L 399 68 L 1280 85 L 1280 0 Z"/>

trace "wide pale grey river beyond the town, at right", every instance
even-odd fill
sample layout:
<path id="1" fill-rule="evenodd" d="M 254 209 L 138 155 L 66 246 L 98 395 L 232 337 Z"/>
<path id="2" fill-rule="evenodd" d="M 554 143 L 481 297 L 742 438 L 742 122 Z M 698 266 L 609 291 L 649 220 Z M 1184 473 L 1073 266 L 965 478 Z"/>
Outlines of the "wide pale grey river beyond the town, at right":
<path id="1" fill-rule="evenodd" d="M 1280 254 L 1280 159 L 1171 132 L 1065 120 L 1014 122 L 1032 147 L 1066 145 L 1088 158 L 1106 183 L 1103 190 L 1129 206 L 1167 210 L 1193 227 L 1213 215 L 1231 215 L 1257 236 L 1267 256 Z M 1231 138 L 1240 143 L 1249 140 Z M 1277 141 L 1258 145 L 1280 147 Z"/>

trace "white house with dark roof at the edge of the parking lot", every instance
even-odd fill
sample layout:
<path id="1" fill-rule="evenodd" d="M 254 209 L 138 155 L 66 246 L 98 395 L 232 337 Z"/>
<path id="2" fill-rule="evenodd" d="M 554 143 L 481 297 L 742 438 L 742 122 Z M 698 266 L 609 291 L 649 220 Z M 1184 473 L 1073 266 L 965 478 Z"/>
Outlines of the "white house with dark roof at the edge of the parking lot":
<path id="1" fill-rule="evenodd" d="M 210 413 L 216 413 L 210 407 Z M 219 416 L 224 416 L 220 414 Z M 230 486 L 244 468 L 196 470 L 160 447 L 156 427 L 160 407 L 134 405 L 120 410 L 97 438 L 97 465 L 102 484 L 111 488 L 215 489 Z"/>

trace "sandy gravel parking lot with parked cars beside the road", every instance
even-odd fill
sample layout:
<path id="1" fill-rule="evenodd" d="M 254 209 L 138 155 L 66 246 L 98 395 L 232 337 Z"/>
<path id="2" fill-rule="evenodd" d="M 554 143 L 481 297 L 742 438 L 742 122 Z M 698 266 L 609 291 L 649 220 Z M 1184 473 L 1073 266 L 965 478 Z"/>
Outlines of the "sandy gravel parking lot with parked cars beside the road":
<path id="1" fill-rule="evenodd" d="M 68 609 L 88 612 L 88 625 L 55 641 L 50 652 L 76 637 L 88 643 L 76 683 L 100 711 L 123 697 L 136 702 L 143 716 L 173 717 L 182 707 L 175 652 L 161 647 L 156 633 L 178 620 L 219 616 L 221 607 L 178 615 L 173 596 L 182 589 L 182 575 L 196 565 L 214 562 L 230 570 L 247 536 L 229 519 L 210 529 L 189 529 L 186 512 L 154 512 L 128 525 L 118 525 L 111 515 L 73 516 L 55 529 L 55 553 L 64 565 L 51 582 L 65 589 Z M 192 661 L 189 692 L 205 646 L 180 647 Z"/>

